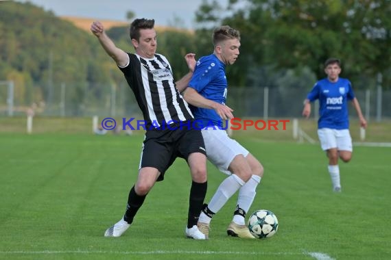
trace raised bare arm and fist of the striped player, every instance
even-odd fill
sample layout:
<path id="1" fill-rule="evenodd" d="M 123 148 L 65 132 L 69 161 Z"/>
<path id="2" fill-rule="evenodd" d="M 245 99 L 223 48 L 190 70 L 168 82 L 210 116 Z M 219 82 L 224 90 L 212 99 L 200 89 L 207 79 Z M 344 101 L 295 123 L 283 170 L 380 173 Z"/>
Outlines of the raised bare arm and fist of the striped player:
<path id="1" fill-rule="evenodd" d="M 115 60 L 118 66 L 123 67 L 128 64 L 128 53 L 122 51 L 115 46 L 114 42 L 112 42 L 112 40 L 107 36 L 106 32 L 104 31 L 102 23 L 100 23 L 99 21 L 93 22 L 91 24 L 91 31 L 95 36 L 97 36 L 97 39 L 99 40 L 103 49 L 108 55 L 110 55 L 110 57 L 112 57 L 112 60 Z"/>

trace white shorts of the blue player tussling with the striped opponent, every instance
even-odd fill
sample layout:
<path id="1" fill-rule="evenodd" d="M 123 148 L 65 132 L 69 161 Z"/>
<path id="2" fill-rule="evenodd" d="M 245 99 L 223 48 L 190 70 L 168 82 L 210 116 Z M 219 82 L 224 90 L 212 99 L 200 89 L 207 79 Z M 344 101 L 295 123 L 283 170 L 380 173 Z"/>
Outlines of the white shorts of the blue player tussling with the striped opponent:
<path id="1" fill-rule="evenodd" d="M 246 148 L 231 139 L 225 130 L 209 127 L 208 129 L 202 129 L 201 132 L 204 138 L 206 156 L 212 164 L 225 174 L 232 174 L 228 170 L 228 166 L 236 155 L 243 155 L 244 157 L 248 155 Z"/>

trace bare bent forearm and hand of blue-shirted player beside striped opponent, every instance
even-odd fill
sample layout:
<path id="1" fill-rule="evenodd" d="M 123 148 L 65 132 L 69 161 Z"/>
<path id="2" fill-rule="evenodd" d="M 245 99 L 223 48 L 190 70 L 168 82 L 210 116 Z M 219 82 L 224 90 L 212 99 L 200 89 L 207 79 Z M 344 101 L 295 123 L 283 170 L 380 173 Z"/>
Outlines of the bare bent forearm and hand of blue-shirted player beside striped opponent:
<path id="1" fill-rule="evenodd" d="M 183 92 L 183 98 L 185 101 L 195 107 L 204 107 L 209 109 L 215 109 L 215 112 L 222 118 L 223 120 L 228 120 L 233 118 L 233 109 L 226 105 L 222 105 L 215 101 L 211 101 L 209 99 L 205 99 L 204 96 L 201 96 L 197 90 L 193 88 L 186 88 L 185 92 Z"/>

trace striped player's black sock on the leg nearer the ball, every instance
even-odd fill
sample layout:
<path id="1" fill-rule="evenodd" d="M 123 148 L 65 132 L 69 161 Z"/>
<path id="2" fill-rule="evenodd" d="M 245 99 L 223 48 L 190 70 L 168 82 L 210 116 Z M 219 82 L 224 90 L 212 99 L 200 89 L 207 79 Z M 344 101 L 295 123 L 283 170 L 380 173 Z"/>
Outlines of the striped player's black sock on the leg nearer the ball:
<path id="1" fill-rule="evenodd" d="M 198 218 L 202 210 L 202 204 L 204 203 L 206 196 L 206 188 L 208 183 L 191 183 L 190 196 L 189 196 L 189 214 L 187 216 L 187 228 L 191 228 L 197 224 Z"/>

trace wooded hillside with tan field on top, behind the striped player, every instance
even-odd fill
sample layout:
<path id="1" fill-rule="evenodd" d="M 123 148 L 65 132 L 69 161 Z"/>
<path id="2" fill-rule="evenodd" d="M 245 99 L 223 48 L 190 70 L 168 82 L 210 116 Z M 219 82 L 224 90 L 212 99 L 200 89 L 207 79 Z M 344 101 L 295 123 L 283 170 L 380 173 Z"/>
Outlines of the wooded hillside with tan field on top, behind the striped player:
<path id="1" fill-rule="evenodd" d="M 29 107 L 41 101 L 60 104 L 61 86 L 67 86 L 67 107 L 71 107 L 72 115 L 83 114 L 87 103 L 106 104 L 108 86 L 117 88 L 124 79 L 89 30 L 93 21 L 59 17 L 29 1 L 0 0 L 0 80 L 14 81 L 15 105 Z M 129 23 L 102 23 L 118 47 L 134 51 Z M 179 79 L 188 72 L 183 57 L 189 51 L 197 53 L 198 45 L 186 31 L 156 27 L 159 29 L 159 52 L 170 57 L 171 66 L 176 68 L 174 76 Z M 127 103 L 128 99 L 130 96 L 123 101 Z"/>

